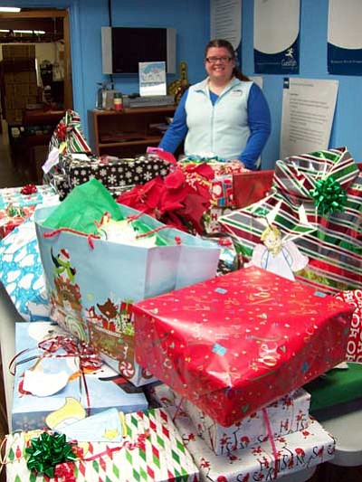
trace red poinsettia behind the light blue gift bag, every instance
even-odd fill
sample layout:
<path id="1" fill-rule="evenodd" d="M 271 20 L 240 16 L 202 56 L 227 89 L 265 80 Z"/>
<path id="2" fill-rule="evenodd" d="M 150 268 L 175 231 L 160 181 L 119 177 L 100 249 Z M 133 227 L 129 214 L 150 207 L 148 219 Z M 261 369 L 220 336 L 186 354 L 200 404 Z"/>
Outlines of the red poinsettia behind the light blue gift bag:
<path id="1" fill-rule="evenodd" d="M 183 231 L 202 233 L 203 214 L 210 207 L 210 182 L 214 171 L 209 165 L 176 165 L 164 179 L 156 177 L 123 193 L 118 203 L 150 214 Z"/>

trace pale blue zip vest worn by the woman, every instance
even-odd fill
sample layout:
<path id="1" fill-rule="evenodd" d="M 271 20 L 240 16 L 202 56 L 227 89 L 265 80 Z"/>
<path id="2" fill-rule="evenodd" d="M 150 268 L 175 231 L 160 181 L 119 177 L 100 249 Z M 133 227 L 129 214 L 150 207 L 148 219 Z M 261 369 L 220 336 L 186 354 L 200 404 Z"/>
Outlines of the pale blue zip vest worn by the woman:
<path id="1" fill-rule="evenodd" d="M 186 99 L 186 156 L 238 158 L 250 136 L 248 97 L 252 81 L 233 78 L 214 106 L 207 80 L 190 87 Z"/>

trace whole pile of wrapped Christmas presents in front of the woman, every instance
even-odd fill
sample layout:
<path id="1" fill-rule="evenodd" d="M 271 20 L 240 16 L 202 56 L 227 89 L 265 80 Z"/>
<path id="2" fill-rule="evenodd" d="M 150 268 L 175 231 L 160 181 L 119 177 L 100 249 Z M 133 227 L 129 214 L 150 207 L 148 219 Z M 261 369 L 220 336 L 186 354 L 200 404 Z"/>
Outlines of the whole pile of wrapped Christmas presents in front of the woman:
<path id="1" fill-rule="evenodd" d="M 302 387 L 334 372 L 346 353 L 359 356 L 359 290 L 330 296 L 342 279 L 357 286 L 359 224 L 352 230 L 350 222 L 359 209 L 359 176 L 348 153 L 335 149 L 278 164 L 269 194 L 223 215 L 228 233 L 211 239 L 203 215 L 236 207 L 239 163 L 175 164 L 157 152 L 139 164 L 97 159 L 82 137 L 71 137 L 80 131 L 67 122 L 47 162 L 52 182 L 63 176 L 69 191 L 62 203 L 34 213 L 37 258 L 29 250 L 34 236 L 19 236 L 26 222 L 4 240 L 6 256 L 24 260 L 24 267 L 40 257 L 52 320 L 16 326 L 16 431 L 6 438 L 7 479 L 246 482 L 331 460 L 335 440 L 310 417 L 310 393 Z M 320 158 L 324 170 L 317 168 Z M 158 161 L 167 163 L 164 177 L 156 175 Z M 324 176 L 326 165 L 333 175 Z M 296 166 L 297 180 L 290 172 Z M 310 184 L 300 183 L 301 173 Z M 137 187 L 117 203 L 117 189 L 129 180 Z M 308 198 L 301 203 L 294 191 L 285 194 L 296 184 Z M 297 211 L 300 224 L 285 221 Z M 267 250 L 252 249 L 235 232 L 247 215 L 260 222 L 259 231 L 251 225 L 252 241 Z M 283 239 L 281 265 L 275 246 L 287 224 L 292 239 Z M 329 269 L 319 279 L 320 260 L 337 236 L 331 225 L 341 239 L 337 252 L 353 253 L 352 267 Z M 219 269 L 216 276 L 220 261 L 233 272 Z M 29 268 L 26 282 L 33 276 Z M 14 269 L 5 277 L 16 284 Z M 329 289 L 322 289 L 326 280 Z M 50 460 L 53 449 L 62 456 Z"/>

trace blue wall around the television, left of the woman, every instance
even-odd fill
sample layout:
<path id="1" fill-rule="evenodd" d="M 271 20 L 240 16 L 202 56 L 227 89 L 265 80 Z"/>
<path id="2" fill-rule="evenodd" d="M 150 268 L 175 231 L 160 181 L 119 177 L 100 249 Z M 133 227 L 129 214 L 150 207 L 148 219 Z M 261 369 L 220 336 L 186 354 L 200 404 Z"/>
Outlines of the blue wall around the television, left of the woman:
<path id="1" fill-rule="evenodd" d="M 189 80 L 195 82 L 204 75 L 203 58 L 205 39 L 209 34 L 208 0 L 113 0 L 112 25 L 159 26 L 176 29 L 176 66 L 186 61 Z M 190 21 L 192 12 L 192 22 Z M 80 1 L 81 31 L 81 77 L 86 95 L 81 110 L 94 109 L 97 82 L 110 80 L 110 76 L 101 73 L 100 27 L 109 25 L 107 0 Z M 127 49 L 127 45 L 124 45 Z M 175 80 L 177 75 L 167 75 L 167 82 Z M 116 90 L 124 94 L 138 92 L 137 75 L 114 75 Z M 77 107 L 77 106 L 75 106 Z"/>

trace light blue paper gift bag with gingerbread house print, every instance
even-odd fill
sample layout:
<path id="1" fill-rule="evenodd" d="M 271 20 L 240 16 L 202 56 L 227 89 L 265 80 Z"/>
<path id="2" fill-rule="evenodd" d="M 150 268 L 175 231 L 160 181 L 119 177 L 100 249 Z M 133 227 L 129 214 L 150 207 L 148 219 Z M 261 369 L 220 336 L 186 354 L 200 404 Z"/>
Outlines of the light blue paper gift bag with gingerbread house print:
<path id="1" fill-rule="evenodd" d="M 35 213 L 52 319 L 94 345 L 132 383 L 148 383 L 152 375 L 142 372 L 134 360 L 131 303 L 213 278 L 220 250 L 211 241 L 165 227 L 146 214 L 139 221 L 151 231 L 162 230 L 169 245 L 120 244 L 91 234 L 53 230 L 43 222 L 54 209 Z M 139 216 L 122 204 L 118 209 L 120 216 Z"/>

